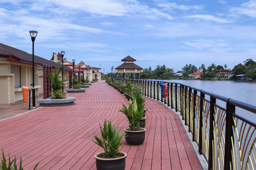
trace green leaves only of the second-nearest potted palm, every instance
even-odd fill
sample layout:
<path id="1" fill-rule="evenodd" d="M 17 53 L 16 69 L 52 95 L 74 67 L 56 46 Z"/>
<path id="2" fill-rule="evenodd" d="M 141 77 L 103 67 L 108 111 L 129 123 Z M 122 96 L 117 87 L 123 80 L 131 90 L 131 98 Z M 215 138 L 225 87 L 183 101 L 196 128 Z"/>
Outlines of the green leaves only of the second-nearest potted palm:
<path id="1" fill-rule="evenodd" d="M 129 107 L 127 108 L 123 104 L 123 108 L 119 111 L 124 113 L 125 116 L 128 118 L 129 128 L 131 131 L 140 131 L 140 120 L 144 115 L 144 110 L 138 109 L 138 104 L 136 99 L 134 99 L 134 101 L 131 101 L 130 99 Z"/>

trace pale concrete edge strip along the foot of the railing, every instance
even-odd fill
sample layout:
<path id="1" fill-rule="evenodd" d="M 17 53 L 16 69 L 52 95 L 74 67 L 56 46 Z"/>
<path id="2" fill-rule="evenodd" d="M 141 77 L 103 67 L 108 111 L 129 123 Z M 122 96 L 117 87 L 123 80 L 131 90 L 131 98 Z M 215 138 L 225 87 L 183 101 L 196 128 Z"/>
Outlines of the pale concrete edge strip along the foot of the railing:
<path id="1" fill-rule="evenodd" d="M 144 97 L 147 97 L 147 96 L 144 96 Z M 157 101 L 157 99 L 153 99 L 153 98 L 150 98 L 150 97 L 147 97 L 147 98 L 148 99 L 152 99 L 154 101 Z M 200 155 L 198 152 L 196 152 L 198 150 L 198 145 L 196 144 L 195 141 L 192 140 L 193 136 L 192 136 L 191 132 L 188 131 L 188 125 L 185 125 L 185 121 L 182 120 L 182 116 L 180 115 L 180 112 L 173 110 L 172 108 L 170 108 L 170 106 L 168 106 L 167 104 L 162 103 L 161 101 L 157 101 L 157 102 L 163 104 L 166 108 L 168 108 L 168 110 L 172 111 L 173 113 L 175 113 L 176 115 L 179 116 L 180 122 L 182 123 L 182 125 L 183 125 L 183 127 L 184 127 L 184 129 L 186 131 L 186 134 L 187 134 L 187 136 L 189 138 L 189 141 L 190 141 L 191 145 L 194 148 L 194 152 L 195 152 L 196 157 L 198 158 L 198 160 L 199 160 L 199 162 L 200 162 L 200 164 L 202 166 L 202 169 L 207 170 L 208 169 L 208 163 L 205 160 L 203 155 Z"/>

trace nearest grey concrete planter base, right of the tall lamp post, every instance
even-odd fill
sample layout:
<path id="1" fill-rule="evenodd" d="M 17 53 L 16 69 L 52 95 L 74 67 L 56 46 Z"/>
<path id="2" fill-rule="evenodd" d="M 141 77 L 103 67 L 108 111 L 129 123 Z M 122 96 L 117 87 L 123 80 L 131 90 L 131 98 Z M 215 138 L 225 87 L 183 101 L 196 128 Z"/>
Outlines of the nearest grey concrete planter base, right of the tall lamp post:
<path id="1" fill-rule="evenodd" d="M 37 103 L 39 103 L 40 106 L 70 106 L 74 104 L 74 101 L 76 101 L 76 97 L 70 97 L 66 96 L 65 99 L 38 99 Z"/>

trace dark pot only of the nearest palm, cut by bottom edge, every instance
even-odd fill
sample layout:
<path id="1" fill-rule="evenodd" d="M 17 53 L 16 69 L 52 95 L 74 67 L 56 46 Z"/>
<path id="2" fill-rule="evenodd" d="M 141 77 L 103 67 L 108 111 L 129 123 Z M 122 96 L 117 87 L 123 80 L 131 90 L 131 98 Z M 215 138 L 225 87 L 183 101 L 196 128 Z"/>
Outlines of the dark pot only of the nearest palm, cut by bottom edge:
<path id="1" fill-rule="evenodd" d="M 104 154 L 105 152 L 96 153 L 94 155 L 96 159 L 96 167 L 98 170 L 119 170 L 119 169 L 125 169 L 125 158 L 127 157 L 127 153 L 125 152 L 119 152 L 121 153 L 122 157 L 118 158 L 101 158 L 100 155 Z"/>

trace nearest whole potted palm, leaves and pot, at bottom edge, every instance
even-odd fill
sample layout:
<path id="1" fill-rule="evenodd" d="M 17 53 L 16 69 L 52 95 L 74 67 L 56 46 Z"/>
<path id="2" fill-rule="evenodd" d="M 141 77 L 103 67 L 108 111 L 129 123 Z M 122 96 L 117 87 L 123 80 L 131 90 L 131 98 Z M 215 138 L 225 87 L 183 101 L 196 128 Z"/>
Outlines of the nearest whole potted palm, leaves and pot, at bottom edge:
<path id="1" fill-rule="evenodd" d="M 104 150 L 104 152 L 96 153 L 94 156 L 97 169 L 125 169 L 127 153 L 118 150 L 118 147 L 122 145 L 120 141 L 124 138 L 125 134 L 116 130 L 110 121 L 107 124 L 106 119 L 104 126 L 100 126 L 100 131 L 101 136 L 95 136 L 93 141 Z"/>

